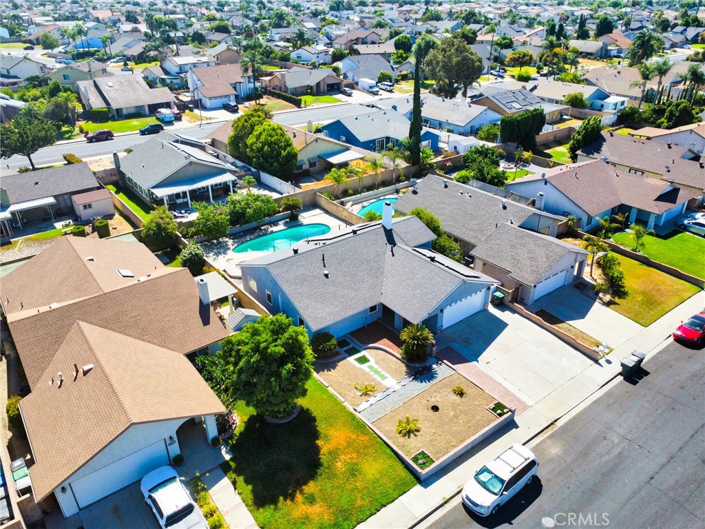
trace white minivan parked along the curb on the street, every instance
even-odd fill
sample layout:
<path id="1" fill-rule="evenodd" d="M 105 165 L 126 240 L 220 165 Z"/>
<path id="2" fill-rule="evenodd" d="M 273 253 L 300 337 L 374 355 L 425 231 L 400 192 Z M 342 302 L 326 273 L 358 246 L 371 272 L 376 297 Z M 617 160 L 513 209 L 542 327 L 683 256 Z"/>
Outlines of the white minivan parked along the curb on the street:
<path id="1" fill-rule="evenodd" d="M 462 503 L 480 516 L 489 516 L 534 479 L 539 461 L 521 444 L 513 444 L 477 470 L 462 487 Z"/>

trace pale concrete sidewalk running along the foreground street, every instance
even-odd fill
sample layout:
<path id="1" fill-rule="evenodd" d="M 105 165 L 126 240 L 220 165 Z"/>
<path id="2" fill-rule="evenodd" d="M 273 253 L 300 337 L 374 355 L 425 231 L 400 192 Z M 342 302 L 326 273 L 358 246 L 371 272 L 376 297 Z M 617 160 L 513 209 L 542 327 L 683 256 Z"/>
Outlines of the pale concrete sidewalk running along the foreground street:
<path id="1" fill-rule="evenodd" d="M 575 408 L 620 373 L 620 360 L 632 351 L 648 355 L 660 351 L 671 339 L 681 320 L 703 310 L 705 293 L 697 293 L 659 318 L 649 327 L 631 336 L 612 351 L 608 358 L 594 363 L 529 407 L 508 425 L 470 452 L 461 456 L 429 480 L 416 485 L 371 518 L 358 525 L 361 529 L 405 529 L 414 527 L 439 509 L 445 501 L 459 494 L 470 476 L 486 461 L 511 443 L 525 444 L 555 420 Z M 647 360 L 648 360 L 647 355 Z"/>

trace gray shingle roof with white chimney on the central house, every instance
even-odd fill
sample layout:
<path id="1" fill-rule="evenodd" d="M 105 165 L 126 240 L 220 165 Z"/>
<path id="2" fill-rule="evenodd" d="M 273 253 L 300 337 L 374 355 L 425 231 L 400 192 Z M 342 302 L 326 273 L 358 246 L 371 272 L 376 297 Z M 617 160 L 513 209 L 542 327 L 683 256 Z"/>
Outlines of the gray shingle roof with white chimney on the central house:
<path id="1" fill-rule="evenodd" d="M 393 219 L 391 232 L 379 222 L 357 226 L 356 231 L 325 245 L 302 243 L 298 254 L 282 250 L 241 268 L 246 272 L 248 267 L 268 267 L 313 331 L 378 303 L 421 322 L 456 289 L 465 297 L 494 282 L 471 269 L 461 274 L 457 263 L 450 266 L 431 250 L 413 248 L 434 238 L 416 217 Z"/>

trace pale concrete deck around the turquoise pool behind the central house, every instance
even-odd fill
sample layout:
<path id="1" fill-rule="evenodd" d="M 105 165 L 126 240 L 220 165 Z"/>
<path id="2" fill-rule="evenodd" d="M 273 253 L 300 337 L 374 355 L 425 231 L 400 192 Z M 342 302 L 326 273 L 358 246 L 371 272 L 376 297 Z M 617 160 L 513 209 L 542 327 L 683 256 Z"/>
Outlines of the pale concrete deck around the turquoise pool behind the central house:
<path id="1" fill-rule="evenodd" d="M 203 244 L 203 250 L 206 259 L 211 262 L 214 267 L 219 270 L 225 270 L 228 268 L 228 274 L 231 276 L 238 276 L 237 268 L 241 262 L 249 261 L 259 257 L 261 255 L 266 255 L 269 252 L 243 252 L 234 253 L 233 248 L 238 244 L 250 241 L 253 238 L 266 235 L 268 233 L 273 233 L 274 231 L 280 231 L 287 228 L 293 228 L 294 226 L 300 226 L 301 224 L 325 224 L 331 228 L 331 233 L 336 231 L 344 231 L 348 229 L 349 225 L 334 217 L 333 215 L 324 212 L 322 209 L 318 208 L 308 208 L 304 209 L 299 214 L 299 223 L 290 223 L 288 221 L 281 221 L 275 224 L 264 224 L 259 230 L 245 232 L 243 234 L 232 235 L 228 237 L 223 237 L 217 241 L 210 241 Z"/>

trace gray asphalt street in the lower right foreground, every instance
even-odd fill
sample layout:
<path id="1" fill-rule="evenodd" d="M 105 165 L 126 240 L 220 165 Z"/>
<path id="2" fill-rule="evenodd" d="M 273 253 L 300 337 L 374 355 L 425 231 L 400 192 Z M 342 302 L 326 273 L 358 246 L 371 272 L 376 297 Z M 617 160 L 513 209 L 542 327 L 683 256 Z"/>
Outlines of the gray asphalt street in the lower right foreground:
<path id="1" fill-rule="evenodd" d="M 536 444 L 537 478 L 495 516 L 458 495 L 419 527 L 705 528 L 705 350 L 670 343 L 644 367 Z"/>

